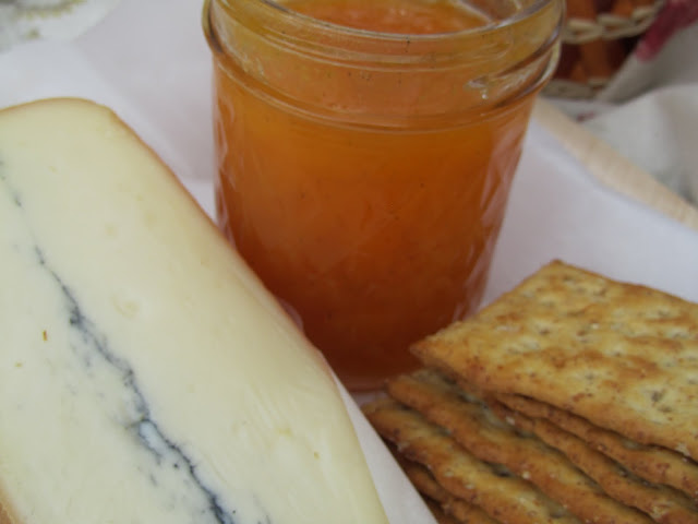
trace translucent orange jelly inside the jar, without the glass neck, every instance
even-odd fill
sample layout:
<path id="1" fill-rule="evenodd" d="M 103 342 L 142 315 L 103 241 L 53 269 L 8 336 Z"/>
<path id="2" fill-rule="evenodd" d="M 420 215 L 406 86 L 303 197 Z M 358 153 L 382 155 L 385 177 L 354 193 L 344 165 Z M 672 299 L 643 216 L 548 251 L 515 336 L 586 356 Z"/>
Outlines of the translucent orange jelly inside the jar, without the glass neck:
<path id="1" fill-rule="evenodd" d="M 441 0 L 286 4 L 397 33 L 482 21 Z M 532 97 L 467 123 L 347 124 L 276 104 L 232 69 L 215 69 L 221 229 L 349 389 L 416 368 L 409 344 L 480 302 Z"/>

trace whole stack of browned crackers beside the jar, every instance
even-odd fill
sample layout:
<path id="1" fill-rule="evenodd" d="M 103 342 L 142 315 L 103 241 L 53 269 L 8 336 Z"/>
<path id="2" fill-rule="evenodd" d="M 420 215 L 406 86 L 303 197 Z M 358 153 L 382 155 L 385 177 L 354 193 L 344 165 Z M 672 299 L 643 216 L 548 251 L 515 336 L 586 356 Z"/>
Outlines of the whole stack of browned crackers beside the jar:
<path id="1" fill-rule="evenodd" d="M 444 523 L 698 523 L 698 305 L 553 262 L 364 406 Z"/>

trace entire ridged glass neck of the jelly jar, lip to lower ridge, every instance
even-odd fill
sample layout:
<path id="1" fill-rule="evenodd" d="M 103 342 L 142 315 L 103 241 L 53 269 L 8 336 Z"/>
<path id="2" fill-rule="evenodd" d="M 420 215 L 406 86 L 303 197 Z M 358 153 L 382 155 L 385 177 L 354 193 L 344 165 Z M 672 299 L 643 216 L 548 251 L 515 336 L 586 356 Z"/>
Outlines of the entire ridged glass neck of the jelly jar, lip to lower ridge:
<path id="1" fill-rule="evenodd" d="M 531 0 L 474 31 L 410 35 L 324 22 L 275 0 L 205 0 L 203 25 L 217 67 L 274 104 L 347 124 L 409 118 L 426 128 L 504 109 L 541 87 L 557 63 L 564 5 Z M 303 82 L 289 84 L 291 74 Z M 349 98 L 341 79 L 351 79 Z M 400 94 L 413 103 L 393 104 Z"/>

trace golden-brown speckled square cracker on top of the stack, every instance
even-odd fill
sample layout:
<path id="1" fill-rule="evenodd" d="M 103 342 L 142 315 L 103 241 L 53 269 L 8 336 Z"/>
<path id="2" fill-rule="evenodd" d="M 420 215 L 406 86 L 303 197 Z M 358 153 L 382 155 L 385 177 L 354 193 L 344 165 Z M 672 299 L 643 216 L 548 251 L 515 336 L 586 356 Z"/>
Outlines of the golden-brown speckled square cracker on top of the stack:
<path id="1" fill-rule="evenodd" d="M 482 390 L 698 458 L 696 303 L 556 261 L 413 350 Z"/>

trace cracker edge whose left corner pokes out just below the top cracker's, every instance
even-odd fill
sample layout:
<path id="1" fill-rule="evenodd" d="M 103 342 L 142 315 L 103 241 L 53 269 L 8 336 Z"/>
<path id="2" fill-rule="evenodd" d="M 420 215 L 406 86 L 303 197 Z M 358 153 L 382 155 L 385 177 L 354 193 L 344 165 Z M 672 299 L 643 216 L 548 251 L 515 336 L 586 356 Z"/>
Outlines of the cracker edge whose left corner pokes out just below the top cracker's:
<path id="1" fill-rule="evenodd" d="M 478 458 L 503 464 L 565 505 L 582 521 L 598 524 L 650 523 L 651 520 L 609 497 L 556 449 L 531 434 L 516 432 L 481 401 L 464 396 L 438 373 L 420 370 L 387 384 L 390 396 L 418 410 Z"/>

